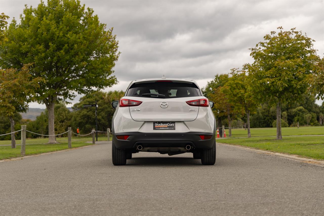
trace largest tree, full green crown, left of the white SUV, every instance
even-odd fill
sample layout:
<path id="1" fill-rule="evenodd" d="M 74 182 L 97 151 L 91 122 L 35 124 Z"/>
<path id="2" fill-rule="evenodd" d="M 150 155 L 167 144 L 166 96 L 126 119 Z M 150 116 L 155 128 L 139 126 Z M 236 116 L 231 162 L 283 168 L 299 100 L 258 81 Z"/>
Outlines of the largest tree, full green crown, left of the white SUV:
<path id="1" fill-rule="evenodd" d="M 21 68 L 34 63 L 34 77 L 46 83 L 37 100 L 48 109 L 49 134 L 54 135 L 54 104 L 73 99 L 117 82 L 113 67 L 118 60 L 118 41 L 112 28 L 100 23 L 91 8 L 79 0 L 48 0 L 25 7 L 20 23 L 13 20 L 0 46 L 0 66 Z M 49 143 L 55 143 L 55 136 Z"/>

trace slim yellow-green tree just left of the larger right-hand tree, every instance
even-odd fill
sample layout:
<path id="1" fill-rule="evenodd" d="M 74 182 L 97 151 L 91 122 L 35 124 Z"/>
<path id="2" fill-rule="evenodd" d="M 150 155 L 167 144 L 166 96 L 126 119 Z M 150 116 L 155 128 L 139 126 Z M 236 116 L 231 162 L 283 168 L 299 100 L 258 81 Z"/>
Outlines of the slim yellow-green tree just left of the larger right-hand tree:
<path id="1" fill-rule="evenodd" d="M 241 110 L 245 111 L 247 116 L 248 138 L 250 138 L 250 114 L 254 113 L 259 105 L 252 93 L 253 83 L 244 70 L 233 68 L 230 74 L 232 77 L 225 84 L 228 90 L 227 95 L 229 96 L 229 100 L 234 104 L 234 110 L 237 112 L 241 112 Z"/>

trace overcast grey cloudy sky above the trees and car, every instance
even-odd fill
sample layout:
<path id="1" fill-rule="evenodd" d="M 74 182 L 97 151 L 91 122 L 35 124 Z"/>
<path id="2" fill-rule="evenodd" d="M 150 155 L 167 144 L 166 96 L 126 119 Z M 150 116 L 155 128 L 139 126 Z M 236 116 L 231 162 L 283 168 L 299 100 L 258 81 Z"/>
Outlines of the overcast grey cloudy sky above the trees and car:
<path id="1" fill-rule="evenodd" d="M 131 80 L 162 75 L 195 79 L 204 87 L 215 74 L 251 63 L 248 48 L 278 26 L 306 32 L 318 54 L 324 53 L 324 1 L 81 2 L 114 27 L 119 40 L 114 73 L 119 83 L 106 90 L 125 90 Z M 25 4 L 38 3 L 0 0 L 0 13 L 18 18 Z"/>

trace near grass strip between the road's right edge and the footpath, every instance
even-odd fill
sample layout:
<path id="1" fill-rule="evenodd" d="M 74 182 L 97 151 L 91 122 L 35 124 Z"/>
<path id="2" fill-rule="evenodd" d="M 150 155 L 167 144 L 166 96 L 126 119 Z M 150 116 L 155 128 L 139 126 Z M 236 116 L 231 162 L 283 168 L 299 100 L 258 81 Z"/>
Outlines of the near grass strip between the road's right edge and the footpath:
<path id="1" fill-rule="evenodd" d="M 324 160 L 323 136 L 284 137 L 282 140 L 277 140 L 273 137 L 228 138 L 216 139 L 216 142 Z"/>

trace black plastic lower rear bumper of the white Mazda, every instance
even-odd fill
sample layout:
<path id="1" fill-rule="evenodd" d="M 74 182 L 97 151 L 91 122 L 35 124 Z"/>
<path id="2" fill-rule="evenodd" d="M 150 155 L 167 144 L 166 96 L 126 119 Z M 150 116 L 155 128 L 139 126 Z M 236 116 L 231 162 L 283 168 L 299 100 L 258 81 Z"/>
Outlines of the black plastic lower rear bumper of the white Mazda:
<path id="1" fill-rule="evenodd" d="M 129 135 L 127 140 L 117 139 L 116 136 Z M 210 135 L 212 138 L 202 140 L 199 135 Z M 112 139 L 117 149 L 136 149 L 137 145 L 145 147 L 185 147 L 191 145 L 197 149 L 211 149 L 215 141 L 215 133 L 113 133 Z"/>

